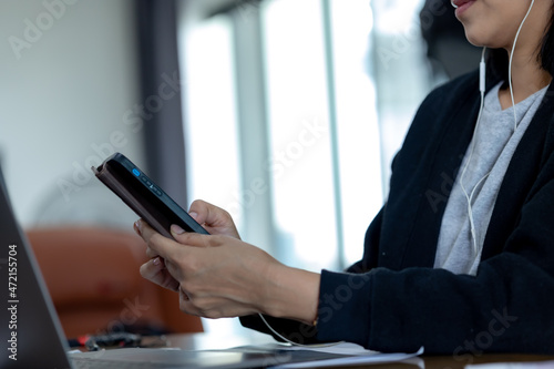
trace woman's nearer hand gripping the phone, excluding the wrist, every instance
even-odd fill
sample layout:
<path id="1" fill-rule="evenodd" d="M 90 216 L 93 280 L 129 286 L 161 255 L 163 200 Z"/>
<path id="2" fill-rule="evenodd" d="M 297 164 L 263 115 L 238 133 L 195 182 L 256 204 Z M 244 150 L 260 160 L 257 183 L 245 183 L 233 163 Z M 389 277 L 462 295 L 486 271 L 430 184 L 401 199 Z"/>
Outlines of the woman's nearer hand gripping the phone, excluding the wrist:
<path id="1" fill-rule="evenodd" d="M 177 290 L 181 310 L 207 318 L 261 311 L 264 283 L 279 265 L 267 253 L 229 236 L 182 233 L 175 242 L 143 221 L 137 226 L 153 257 L 142 276 Z"/>

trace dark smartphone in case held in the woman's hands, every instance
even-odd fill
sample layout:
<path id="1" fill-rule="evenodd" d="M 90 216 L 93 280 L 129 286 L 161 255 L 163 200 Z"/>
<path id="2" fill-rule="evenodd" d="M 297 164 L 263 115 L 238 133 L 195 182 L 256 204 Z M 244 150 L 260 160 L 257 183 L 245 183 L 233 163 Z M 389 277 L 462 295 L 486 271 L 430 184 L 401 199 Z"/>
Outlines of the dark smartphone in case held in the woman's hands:
<path id="1" fill-rule="evenodd" d="M 186 232 L 208 234 L 125 155 L 115 153 L 98 167 L 93 166 L 92 172 L 162 235 L 173 238 L 170 230 L 172 224 L 181 226 Z"/>

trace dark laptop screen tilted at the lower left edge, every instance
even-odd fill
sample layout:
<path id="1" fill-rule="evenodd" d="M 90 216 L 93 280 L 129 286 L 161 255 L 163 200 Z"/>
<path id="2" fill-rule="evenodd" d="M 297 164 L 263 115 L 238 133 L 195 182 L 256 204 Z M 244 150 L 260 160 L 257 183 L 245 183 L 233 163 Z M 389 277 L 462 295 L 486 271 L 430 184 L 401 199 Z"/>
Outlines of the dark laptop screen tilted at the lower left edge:
<path id="1" fill-rule="evenodd" d="M 0 368 L 71 368 L 39 266 L 16 222 L 0 168 Z"/>

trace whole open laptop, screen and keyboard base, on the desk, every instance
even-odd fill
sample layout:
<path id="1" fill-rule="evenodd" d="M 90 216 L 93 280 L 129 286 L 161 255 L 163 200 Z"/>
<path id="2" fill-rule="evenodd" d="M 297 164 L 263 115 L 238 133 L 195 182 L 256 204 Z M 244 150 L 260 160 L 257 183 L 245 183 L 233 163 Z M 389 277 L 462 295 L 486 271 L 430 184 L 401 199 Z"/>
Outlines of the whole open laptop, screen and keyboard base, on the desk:
<path id="1" fill-rule="evenodd" d="M 60 273 L 63 262 L 60 260 Z M 138 273 L 138 271 L 137 271 Z M 68 276 L 71 278 L 71 276 Z M 0 368 L 258 368 L 287 362 L 279 350 L 125 348 L 69 353 L 31 247 L 16 221 L 0 167 Z M 300 361 L 307 358 L 300 359 Z"/>

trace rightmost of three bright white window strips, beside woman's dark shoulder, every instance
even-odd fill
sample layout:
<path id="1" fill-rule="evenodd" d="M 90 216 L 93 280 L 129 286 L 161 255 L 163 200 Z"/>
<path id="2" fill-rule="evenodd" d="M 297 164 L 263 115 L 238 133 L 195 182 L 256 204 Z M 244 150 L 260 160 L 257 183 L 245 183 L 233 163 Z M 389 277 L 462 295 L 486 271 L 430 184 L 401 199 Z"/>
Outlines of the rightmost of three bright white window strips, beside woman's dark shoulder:
<path id="1" fill-rule="evenodd" d="M 381 145 L 370 78 L 368 1 L 331 1 L 345 262 L 361 259 L 370 221 L 383 203 Z"/>

